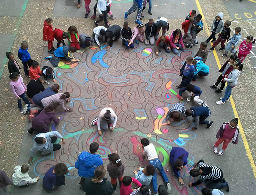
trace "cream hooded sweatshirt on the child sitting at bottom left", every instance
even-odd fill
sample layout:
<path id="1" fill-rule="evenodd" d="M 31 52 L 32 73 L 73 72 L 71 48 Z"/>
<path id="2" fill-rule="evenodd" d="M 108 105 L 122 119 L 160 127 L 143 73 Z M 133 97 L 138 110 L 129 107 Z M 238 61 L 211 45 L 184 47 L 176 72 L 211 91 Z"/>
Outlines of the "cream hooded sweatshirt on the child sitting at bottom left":
<path id="1" fill-rule="evenodd" d="M 12 175 L 12 181 L 14 185 L 18 185 L 21 181 L 27 181 L 28 183 L 36 183 L 37 179 L 32 179 L 28 172 L 22 173 L 21 166 L 14 167 L 15 173 Z"/>

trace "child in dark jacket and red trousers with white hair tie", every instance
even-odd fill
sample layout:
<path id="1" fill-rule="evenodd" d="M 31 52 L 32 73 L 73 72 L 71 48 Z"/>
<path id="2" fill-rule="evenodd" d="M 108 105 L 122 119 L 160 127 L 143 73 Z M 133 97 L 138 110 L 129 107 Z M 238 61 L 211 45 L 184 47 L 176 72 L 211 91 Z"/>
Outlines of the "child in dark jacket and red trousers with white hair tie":
<path id="1" fill-rule="evenodd" d="M 120 159 L 119 155 L 116 153 L 112 153 L 107 156 L 109 159 L 109 164 L 107 165 L 107 171 L 111 178 L 111 184 L 113 186 L 114 191 L 117 187 L 117 179 L 119 181 L 119 185 L 121 186 L 123 175 L 125 171 L 125 165 L 122 164 L 122 160 Z"/>

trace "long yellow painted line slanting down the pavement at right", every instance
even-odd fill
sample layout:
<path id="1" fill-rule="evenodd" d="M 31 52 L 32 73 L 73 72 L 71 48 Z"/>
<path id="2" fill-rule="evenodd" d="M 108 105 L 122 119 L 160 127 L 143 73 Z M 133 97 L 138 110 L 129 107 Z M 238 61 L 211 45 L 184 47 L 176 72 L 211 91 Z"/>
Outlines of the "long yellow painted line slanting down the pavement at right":
<path id="1" fill-rule="evenodd" d="M 251 1 L 251 0 L 249 0 L 249 1 Z M 252 2 L 253 2 L 253 1 L 252 1 Z M 202 20 L 203 20 L 204 25 L 207 26 L 207 27 L 205 28 L 206 33 L 207 33 L 208 36 L 210 36 L 210 31 L 209 31 L 209 29 L 208 29 L 208 25 L 206 24 L 206 20 L 205 20 L 204 14 L 203 14 L 203 12 L 202 12 L 202 8 L 201 8 L 201 6 L 200 6 L 200 3 L 199 3 L 198 0 L 195 0 L 195 3 L 196 3 L 196 5 L 197 5 L 197 8 L 198 8 L 200 14 L 202 15 Z M 214 57 L 215 57 L 216 62 L 217 62 L 217 64 L 218 64 L 218 68 L 220 69 L 220 68 L 221 68 L 221 65 L 220 65 L 219 57 L 218 57 L 218 55 L 217 55 L 217 53 L 216 53 L 216 50 L 213 51 L 213 54 L 214 54 Z M 235 108 L 235 103 L 234 103 L 234 100 L 233 100 L 233 98 L 232 98 L 232 95 L 230 96 L 229 99 L 230 99 L 230 103 L 231 103 L 231 106 L 232 106 L 234 115 L 235 115 L 236 118 L 239 119 L 238 125 L 239 125 L 239 127 L 240 127 L 240 135 L 241 135 L 241 137 L 242 137 L 242 139 L 243 139 L 243 143 L 244 143 L 244 147 L 245 147 L 245 150 L 246 150 L 246 154 L 247 154 L 247 156 L 248 156 L 248 159 L 249 159 L 249 161 L 250 161 L 251 167 L 252 167 L 252 169 L 253 169 L 254 177 L 255 177 L 255 179 L 256 179 L 256 166 L 255 166 L 254 159 L 253 159 L 252 153 L 251 153 L 251 151 L 250 151 L 250 148 L 249 148 L 249 145 L 248 145 L 246 136 L 245 136 L 245 134 L 244 134 L 244 129 L 243 129 L 243 127 L 242 127 L 242 124 L 241 124 L 241 122 L 240 122 L 240 118 L 239 118 L 238 113 L 237 113 L 237 110 L 236 110 L 236 108 Z"/>

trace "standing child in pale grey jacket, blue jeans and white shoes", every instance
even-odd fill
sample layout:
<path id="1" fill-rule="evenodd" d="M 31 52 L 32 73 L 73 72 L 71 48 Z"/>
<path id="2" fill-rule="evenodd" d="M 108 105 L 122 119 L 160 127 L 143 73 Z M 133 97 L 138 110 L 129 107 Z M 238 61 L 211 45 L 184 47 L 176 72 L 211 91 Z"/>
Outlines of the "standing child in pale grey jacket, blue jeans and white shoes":
<path id="1" fill-rule="evenodd" d="M 225 104 L 225 101 L 229 100 L 232 89 L 237 85 L 238 77 L 241 73 L 239 68 L 241 66 L 242 66 L 242 63 L 239 59 L 234 61 L 233 65 L 232 65 L 233 70 L 227 76 L 228 78 L 223 79 L 223 81 L 228 83 L 226 90 L 225 90 L 225 95 L 224 95 L 224 97 L 220 97 L 219 101 L 216 101 L 217 105 L 223 105 L 223 104 Z"/>

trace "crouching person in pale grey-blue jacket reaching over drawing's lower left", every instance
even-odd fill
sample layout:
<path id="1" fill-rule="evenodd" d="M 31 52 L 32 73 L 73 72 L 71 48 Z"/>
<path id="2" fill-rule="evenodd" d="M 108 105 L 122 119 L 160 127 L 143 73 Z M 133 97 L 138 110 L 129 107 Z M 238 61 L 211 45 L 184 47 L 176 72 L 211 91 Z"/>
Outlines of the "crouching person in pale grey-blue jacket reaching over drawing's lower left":
<path id="1" fill-rule="evenodd" d="M 53 144 L 57 138 L 60 138 L 63 144 L 65 143 L 64 138 L 58 131 L 37 134 L 34 138 L 33 147 L 30 150 L 30 158 L 28 163 L 32 163 L 33 157 L 35 157 L 36 153 L 44 156 L 51 154 L 55 150 L 60 150 L 60 144 Z"/>

